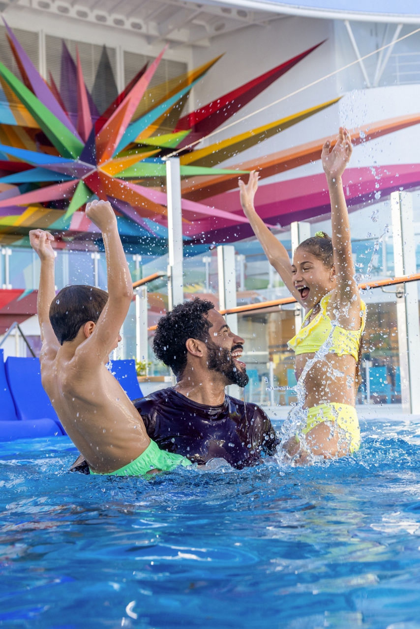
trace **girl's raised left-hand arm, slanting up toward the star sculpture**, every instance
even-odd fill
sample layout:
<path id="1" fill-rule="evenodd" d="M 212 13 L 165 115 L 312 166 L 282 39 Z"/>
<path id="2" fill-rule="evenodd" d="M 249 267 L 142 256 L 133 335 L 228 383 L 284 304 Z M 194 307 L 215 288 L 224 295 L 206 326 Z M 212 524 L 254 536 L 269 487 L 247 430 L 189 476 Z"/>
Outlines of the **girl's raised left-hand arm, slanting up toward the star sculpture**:
<path id="1" fill-rule="evenodd" d="M 256 213 L 254 208 L 254 196 L 258 189 L 258 172 L 252 170 L 249 173 L 249 179 L 245 184 L 239 179 L 239 191 L 241 193 L 241 205 L 244 210 L 244 214 L 251 227 L 254 230 L 254 234 L 261 243 L 261 247 L 264 249 L 264 253 L 268 258 L 271 266 L 276 269 L 293 297 L 301 302 L 300 293 L 295 289 L 292 277 L 292 264 L 285 247 L 279 240 L 271 233 L 270 229 L 265 225 L 264 221 Z"/>

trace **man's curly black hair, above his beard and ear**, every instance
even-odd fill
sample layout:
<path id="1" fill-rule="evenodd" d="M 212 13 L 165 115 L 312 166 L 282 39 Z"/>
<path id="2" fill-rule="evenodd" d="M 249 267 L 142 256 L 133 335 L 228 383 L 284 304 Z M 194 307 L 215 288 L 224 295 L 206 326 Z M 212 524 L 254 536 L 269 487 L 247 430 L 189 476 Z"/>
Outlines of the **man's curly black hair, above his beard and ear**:
<path id="1" fill-rule="evenodd" d="M 153 350 L 157 359 L 171 367 L 176 377 L 183 374 L 186 367 L 188 338 L 199 341 L 208 339 L 208 330 L 212 327 L 207 317 L 203 316 L 214 308 L 208 299 L 196 297 L 191 301 L 178 304 L 159 319 L 153 339 Z"/>

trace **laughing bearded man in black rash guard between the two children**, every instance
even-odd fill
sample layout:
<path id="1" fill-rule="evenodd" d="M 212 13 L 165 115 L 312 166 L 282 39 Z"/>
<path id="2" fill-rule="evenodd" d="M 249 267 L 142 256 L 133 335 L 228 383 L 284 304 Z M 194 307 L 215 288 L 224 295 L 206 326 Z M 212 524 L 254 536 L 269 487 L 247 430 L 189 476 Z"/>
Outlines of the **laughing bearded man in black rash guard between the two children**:
<path id="1" fill-rule="evenodd" d="M 279 442 L 264 411 L 225 394 L 227 385 L 248 382 L 239 360 L 243 343 L 205 299 L 179 304 L 159 320 L 154 353 L 171 367 L 176 385 L 134 402 L 159 448 L 194 463 L 225 459 L 237 468 L 274 454 Z"/>

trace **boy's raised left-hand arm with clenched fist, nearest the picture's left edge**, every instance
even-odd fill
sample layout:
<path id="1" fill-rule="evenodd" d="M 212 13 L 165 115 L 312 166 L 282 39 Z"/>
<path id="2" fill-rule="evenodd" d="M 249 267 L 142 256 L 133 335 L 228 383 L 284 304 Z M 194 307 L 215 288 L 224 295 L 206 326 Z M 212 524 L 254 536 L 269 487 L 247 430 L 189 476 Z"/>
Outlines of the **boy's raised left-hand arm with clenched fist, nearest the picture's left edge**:
<path id="1" fill-rule="evenodd" d="M 59 342 L 50 323 L 50 305 L 55 298 L 55 253 L 52 248 L 54 236 L 49 231 L 31 230 L 29 232 L 31 247 L 38 253 L 41 260 L 40 284 L 38 287 L 38 321 L 40 324 L 42 351 L 57 351 Z"/>

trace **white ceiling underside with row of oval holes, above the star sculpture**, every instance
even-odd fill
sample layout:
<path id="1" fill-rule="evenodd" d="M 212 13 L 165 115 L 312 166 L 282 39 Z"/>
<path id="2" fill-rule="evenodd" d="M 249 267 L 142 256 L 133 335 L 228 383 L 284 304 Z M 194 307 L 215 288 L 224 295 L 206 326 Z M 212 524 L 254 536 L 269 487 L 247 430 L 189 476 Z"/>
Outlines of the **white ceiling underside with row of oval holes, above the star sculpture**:
<path id="1" fill-rule="evenodd" d="M 212 2 L 212 0 L 211 0 Z M 0 10 L 22 7 L 47 11 L 135 31 L 149 41 L 206 46 L 222 33 L 265 25 L 285 16 L 278 12 L 186 0 L 3 0 Z"/>

